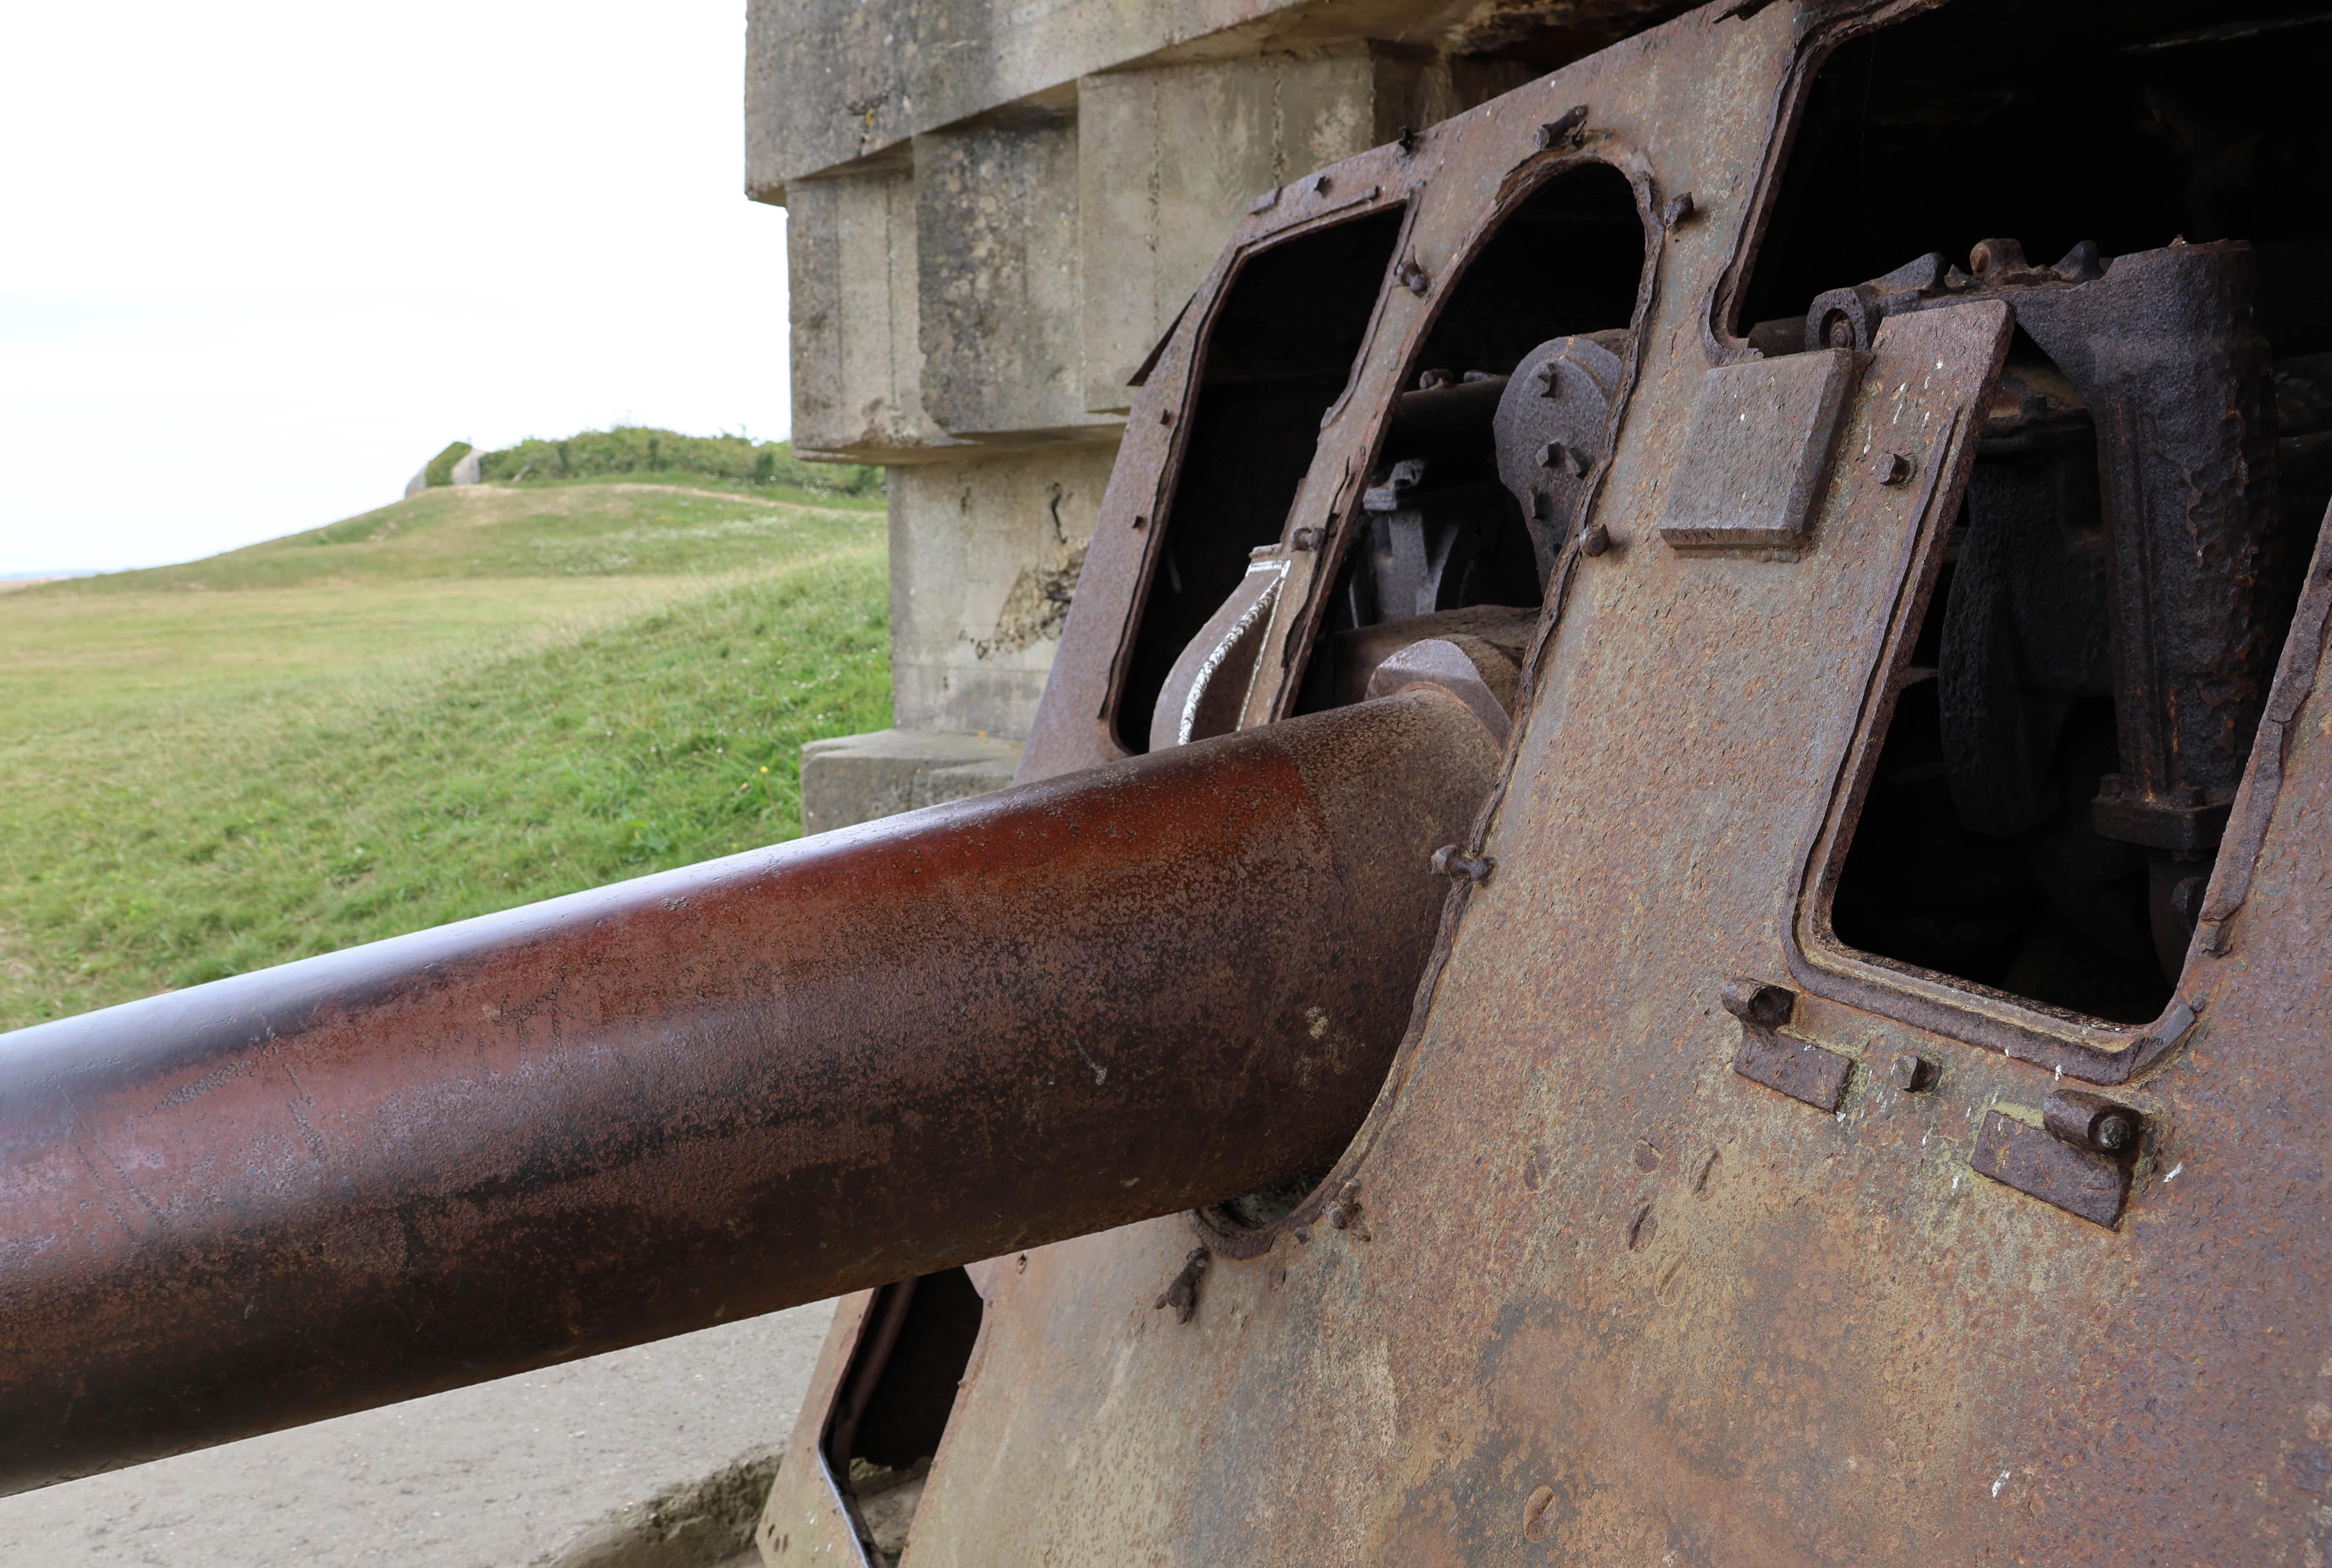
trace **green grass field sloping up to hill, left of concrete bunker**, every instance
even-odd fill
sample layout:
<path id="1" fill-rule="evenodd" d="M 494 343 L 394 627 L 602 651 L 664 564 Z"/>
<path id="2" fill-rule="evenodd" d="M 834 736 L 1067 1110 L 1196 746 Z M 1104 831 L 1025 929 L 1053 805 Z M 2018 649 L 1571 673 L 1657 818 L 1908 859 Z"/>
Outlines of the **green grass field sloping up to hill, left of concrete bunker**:
<path id="1" fill-rule="evenodd" d="M 0 1027 L 800 832 L 891 722 L 881 499 L 431 489 L 0 594 Z"/>

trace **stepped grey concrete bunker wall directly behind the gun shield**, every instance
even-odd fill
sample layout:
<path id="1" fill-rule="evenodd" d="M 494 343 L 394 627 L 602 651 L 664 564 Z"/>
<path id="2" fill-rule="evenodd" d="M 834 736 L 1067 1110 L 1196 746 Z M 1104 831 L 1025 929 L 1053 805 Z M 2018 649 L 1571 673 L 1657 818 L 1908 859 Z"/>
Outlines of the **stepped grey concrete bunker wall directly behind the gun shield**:
<path id="1" fill-rule="evenodd" d="M 895 729 L 805 753 L 805 825 L 1010 783 L 1126 382 L 1248 203 L 1679 9 L 753 0 L 793 445 L 891 473 Z"/>

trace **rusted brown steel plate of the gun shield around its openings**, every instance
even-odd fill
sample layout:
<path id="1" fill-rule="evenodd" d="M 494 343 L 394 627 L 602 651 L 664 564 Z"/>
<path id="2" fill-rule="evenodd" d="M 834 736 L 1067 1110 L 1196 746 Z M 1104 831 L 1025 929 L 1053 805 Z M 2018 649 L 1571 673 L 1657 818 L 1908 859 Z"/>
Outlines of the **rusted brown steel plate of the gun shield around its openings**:
<path id="1" fill-rule="evenodd" d="M 2131 508 L 2159 503 L 2171 522 L 2199 508 L 2187 555 L 2201 578 L 2148 606 L 2187 627 L 2166 678 L 2211 685 L 2166 704 L 2166 725 L 2197 727 L 2169 746 L 2208 771 L 2225 760 L 2211 746 L 2229 753 L 2211 736 L 2234 734 L 2243 769 L 2232 804 L 2229 774 L 2201 787 L 2227 815 L 2227 848 L 2176 990 L 2145 1025 L 1873 960 L 1828 930 L 1828 890 L 1957 550 L 2008 347 L 2003 291 L 1922 303 L 1950 324 L 1884 308 L 1917 301 L 1919 277 L 1831 298 L 1854 315 L 1817 319 L 1814 347 L 1875 359 L 1849 387 L 1800 559 L 1782 559 L 1796 541 L 1763 557 L 1674 550 L 1653 527 L 1672 475 L 1702 457 L 1688 438 L 1702 375 L 1747 359 L 1723 322 L 1805 72 L 1826 42 L 1910 9 L 1709 7 L 1409 154 L 1404 247 L 1434 287 L 1495 221 L 1513 172 L 1548 151 L 1532 126 L 1567 105 L 1590 105 L 1590 147 L 1602 133 L 1630 158 L 1649 212 L 1693 191 L 1649 263 L 1609 471 L 1574 501 L 1581 534 L 1602 527 L 1611 548 L 1553 564 L 1509 778 L 1467 839 L 1483 874 L 1460 883 L 1418 1020 L 1353 1149 L 1285 1221 L 1215 1246 L 1187 1323 L 1150 1309 L 1180 1279 L 1185 1223 L 1082 1237 L 998 1274 L 923 1496 L 916 1568 L 2332 1554 L 2332 1095 L 2316 1072 L 2332 1018 L 2332 720 L 2318 694 L 2332 557 L 2318 552 L 2264 687 L 2246 638 L 2274 622 L 2253 613 L 2274 575 L 2257 534 L 2267 466 L 2255 377 L 2236 363 L 2257 354 L 2178 349 L 2171 380 L 2190 380 L 2124 391 L 2194 403 L 2192 377 L 2213 375 L 2199 401 L 2227 389 L 2225 426 L 2122 457 L 2143 492 Z M 1355 168 L 1381 184 L 1388 156 Z M 1234 259 L 1271 233 L 1250 219 Z M 1994 245 L 1987 261 L 2003 256 Z M 1929 273 L 1940 294 L 1943 268 Z M 1322 431 L 1290 517 L 1266 676 L 1308 636 L 1285 620 L 1322 571 L 1299 531 L 1334 543 L 1348 529 L 1339 508 L 1357 501 L 1341 485 L 1371 473 L 1376 447 L 1346 426 L 1399 403 L 1434 287 L 1388 289 Z M 1922 317 L 1933 331 L 1905 331 Z M 1798 347 L 1784 326 L 1768 352 Z M 2106 342 L 2122 326 L 2136 331 Z M 2148 331 L 2129 315 L 2080 352 L 2136 366 Z M 1152 380 L 1164 405 L 1199 347 L 1189 331 L 1168 345 Z M 1115 485 L 1154 506 L 1173 454 L 1143 415 Z M 2178 494 L 2162 478 L 2176 466 L 2232 478 Z M 2152 529 L 2138 548 L 2159 564 L 2164 538 Z M 1096 541 L 1094 559 L 1117 548 Z M 1133 613 L 1138 541 L 1122 557 L 1126 575 L 1098 580 L 1091 615 L 1080 594 L 1070 631 L 1087 615 L 1096 664 L 1056 678 L 1033 771 L 1101 736 L 1098 659 Z M 2124 634 L 2129 622 L 2124 610 Z M 1257 680 L 1245 722 L 1287 690 Z M 2248 762 L 2227 701 L 2262 713 Z M 1740 976 L 1786 986 L 1728 997 Z M 1835 1067 L 1821 1093 L 1796 1095 L 1786 1072 L 1751 1081 L 1756 1044 Z M 1765 1088 L 1777 1079 L 1784 1093 Z"/>

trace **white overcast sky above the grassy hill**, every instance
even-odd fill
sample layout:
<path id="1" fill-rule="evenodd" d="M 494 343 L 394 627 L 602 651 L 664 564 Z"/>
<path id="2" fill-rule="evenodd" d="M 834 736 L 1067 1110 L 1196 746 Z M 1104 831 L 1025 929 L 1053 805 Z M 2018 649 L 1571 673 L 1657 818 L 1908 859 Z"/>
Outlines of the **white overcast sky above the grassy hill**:
<path id="1" fill-rule="evenodd" d="M 448 440 L 784 436 L 744 0 L 14 5 L 0 575 L 394 501 Z"/>

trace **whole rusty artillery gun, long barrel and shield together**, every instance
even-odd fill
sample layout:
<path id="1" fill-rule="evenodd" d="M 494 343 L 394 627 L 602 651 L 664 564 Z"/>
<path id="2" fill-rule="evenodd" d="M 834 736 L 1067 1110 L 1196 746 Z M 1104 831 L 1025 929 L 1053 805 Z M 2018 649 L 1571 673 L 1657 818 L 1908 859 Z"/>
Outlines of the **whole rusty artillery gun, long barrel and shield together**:
<path id="1" fill-rule="evenodd" d="M 849 1293 L 777 1568 L 2320 1563 L 2327 63 L 1721 0 L 1259 196 L 1014 790 L 5 1041 L 9 1484 Z"/>

